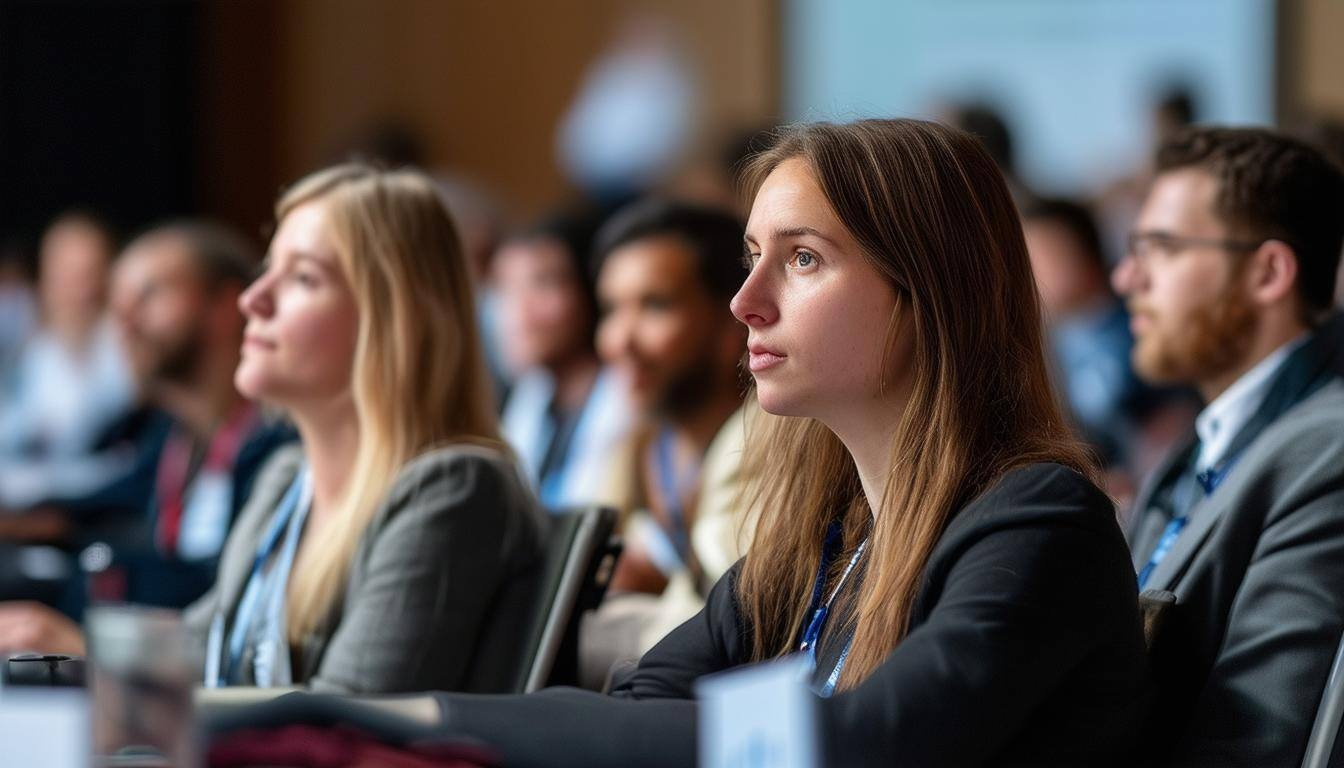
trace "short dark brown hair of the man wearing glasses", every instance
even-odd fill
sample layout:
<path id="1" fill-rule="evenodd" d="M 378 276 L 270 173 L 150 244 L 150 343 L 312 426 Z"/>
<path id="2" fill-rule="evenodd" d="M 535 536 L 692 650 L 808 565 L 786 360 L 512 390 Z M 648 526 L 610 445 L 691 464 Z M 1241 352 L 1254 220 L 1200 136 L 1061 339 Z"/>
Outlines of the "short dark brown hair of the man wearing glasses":
<path id="1" fill-rule="evenodd" d="M 1329 309 L 1344 247 L 1344 172 L 1335 163 L 1262 128 L 1188 128 L 1156 157 L 1159 174 L 1184 168 L 1218 180 L 1214 213 L 1238 237 L 1286 242 L 1304 309 Z"/>

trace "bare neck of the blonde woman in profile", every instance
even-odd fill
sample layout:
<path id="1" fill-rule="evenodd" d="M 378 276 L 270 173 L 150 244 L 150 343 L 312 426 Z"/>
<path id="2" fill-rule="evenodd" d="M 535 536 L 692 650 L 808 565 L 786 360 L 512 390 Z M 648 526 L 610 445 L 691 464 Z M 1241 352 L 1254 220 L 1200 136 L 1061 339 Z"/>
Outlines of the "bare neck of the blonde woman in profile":
<path id="1" fill-rule="evenodd" d="M 335 508 L 359 451 L 359 418 L 349 395 L 321 404 L 292 408 L 313 482 L 309 519 L 320 523 Z"/>

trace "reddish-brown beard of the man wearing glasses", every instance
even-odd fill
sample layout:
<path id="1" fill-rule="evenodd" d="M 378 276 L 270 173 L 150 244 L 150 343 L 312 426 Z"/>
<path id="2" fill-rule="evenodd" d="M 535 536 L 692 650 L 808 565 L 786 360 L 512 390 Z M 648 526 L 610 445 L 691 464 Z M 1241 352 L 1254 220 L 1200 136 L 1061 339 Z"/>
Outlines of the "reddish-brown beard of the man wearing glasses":
<path id="1" fill-rule="evenodd" d="M 1154 383 L 1195 383 L 1238 366 L 1251 344 L 1255 311 L 1228 280 L 1223 292 L 1200 307 L 1175 332 L 1150 332 L 1134 344 L 1134 370 Z"/>

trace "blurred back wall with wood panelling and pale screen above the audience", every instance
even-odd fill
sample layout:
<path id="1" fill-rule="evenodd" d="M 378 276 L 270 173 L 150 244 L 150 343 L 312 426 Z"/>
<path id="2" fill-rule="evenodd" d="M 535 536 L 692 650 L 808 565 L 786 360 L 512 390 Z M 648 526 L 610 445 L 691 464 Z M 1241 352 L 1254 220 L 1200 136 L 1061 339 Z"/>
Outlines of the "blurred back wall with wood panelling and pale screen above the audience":
<path id="1" fill-rule="evenodd" d="M 1099 195 L 1153 105 L 1344 117 L 1336 0 L 4 0 L 0 234 L 85 206 L 258 237 L 286 182 L 352 152 L 511 215 L 578 187 L 702 183 L 781 121 L 996 110 L 1024 183 Z"/>

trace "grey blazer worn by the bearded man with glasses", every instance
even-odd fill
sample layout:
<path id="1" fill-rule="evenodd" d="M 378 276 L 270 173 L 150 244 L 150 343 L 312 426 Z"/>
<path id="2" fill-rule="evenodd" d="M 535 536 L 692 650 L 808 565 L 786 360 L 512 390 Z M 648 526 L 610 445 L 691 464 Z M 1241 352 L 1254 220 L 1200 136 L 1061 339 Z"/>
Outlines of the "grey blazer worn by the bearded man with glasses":
<path id="1" fill-rule="evenodd" d="M 1169 519 L 1153 473 L 1129 522 L 1134 569 Z M 1269 424 L 1145 589 L 1177 604 L 1152 648 L 1156 753 L 1177 765 L 1297 765 L 1344 631 L 1344 382 Z"/>

